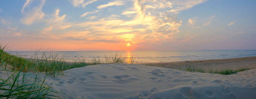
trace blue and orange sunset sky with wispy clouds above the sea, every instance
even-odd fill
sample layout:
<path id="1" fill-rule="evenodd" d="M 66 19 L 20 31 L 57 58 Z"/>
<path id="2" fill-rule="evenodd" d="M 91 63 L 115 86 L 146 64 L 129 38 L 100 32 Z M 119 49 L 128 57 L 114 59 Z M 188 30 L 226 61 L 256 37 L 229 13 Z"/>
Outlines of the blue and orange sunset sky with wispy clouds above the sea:
<path id="1" fill-rule="evenodd" d="M 256 0 L 1 0 L 11 51 L 256 49 Z"/>

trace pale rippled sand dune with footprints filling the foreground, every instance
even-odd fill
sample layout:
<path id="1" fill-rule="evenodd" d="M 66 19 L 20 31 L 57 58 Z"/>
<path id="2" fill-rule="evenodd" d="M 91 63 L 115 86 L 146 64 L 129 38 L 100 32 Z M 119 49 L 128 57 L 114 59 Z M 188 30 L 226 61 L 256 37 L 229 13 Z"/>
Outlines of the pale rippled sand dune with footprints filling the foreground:
<path id="1" fill-rule="evenodd" d="M 115 63 L 46 80 L 69 99 L 256 99 L 256 69 L 220 75 Z"/>

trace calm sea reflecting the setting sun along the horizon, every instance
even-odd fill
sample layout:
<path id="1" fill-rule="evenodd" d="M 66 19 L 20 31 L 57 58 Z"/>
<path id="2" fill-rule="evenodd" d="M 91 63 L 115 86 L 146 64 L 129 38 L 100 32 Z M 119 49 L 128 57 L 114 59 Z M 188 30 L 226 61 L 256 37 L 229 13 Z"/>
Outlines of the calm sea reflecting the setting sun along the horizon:
<path id="1" fill-rule="evenodd" d="M 35 51 L 8 51 L 13 55 L 31 58 Z M 47 51 L 47 56 L 58 54 L 59 57 L 66 58 L 66 61 L 74 61 L 82 58 L 90 62 L 93 58 L 104 60 L 105 56 L 118 53 L 127 59 L 133 58 L 135 62 L 172 62 L 172 61 L 192 61 L 206 59 L 239 58 L 256 56 L 256 50 L 225 50 L 225 51 Z M 38 56 L 42 52 L 37 53 Z"/>

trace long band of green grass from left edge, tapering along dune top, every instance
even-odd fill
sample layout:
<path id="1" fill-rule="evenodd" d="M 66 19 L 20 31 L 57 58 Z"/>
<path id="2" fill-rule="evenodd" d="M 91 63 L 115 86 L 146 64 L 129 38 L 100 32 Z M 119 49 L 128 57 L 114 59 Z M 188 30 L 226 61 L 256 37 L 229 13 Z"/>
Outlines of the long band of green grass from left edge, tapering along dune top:
<path id="1" fill-rule="evenodd" d="M 22 58 L 6 53 L 4 50 L 5 46 L 0 46 L 0 61 L 2 61 L 4 69 L 8 68 L 11 71 L 20 71 L 24 66 L 22 72 L 44 72 L 47 75 L 57 76 L 68 69 L 91 65 L 82 60 L 66 62 L 63 57 L 58 57 L 58 54 L 46 56 L 46 53 L 42 52 L 42 56 L 38 56 L 37 52 L 31 58 Z"/>

